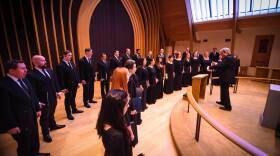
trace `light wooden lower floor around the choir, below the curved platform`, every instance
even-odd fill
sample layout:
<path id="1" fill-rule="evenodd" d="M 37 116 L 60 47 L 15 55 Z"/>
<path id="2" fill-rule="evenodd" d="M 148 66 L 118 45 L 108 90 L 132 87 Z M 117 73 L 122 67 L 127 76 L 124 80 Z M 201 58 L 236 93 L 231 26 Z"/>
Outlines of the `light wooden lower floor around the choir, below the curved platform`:
<path id="1" fill-rule="evenodd" d="M 51 132 L 53 142 L 41 140 L 41 152 L 50 152 L 54 156 L 103 156 L 104 148 L 98 138 L 95 124 L 100 109 L 99 83 L 95 84 L 98 103 L 90 109 L 82 107 L 82 89 L 79 88 L 76 102 L 85 112 L 75 114 L 75 120 L 65 117 L 63 99 L 59 100 L 56 110 L 56 120 L 66 124 L 66 128 Z M 143 123 L 138 127 L 139 144 L 133 149 L 134 155 L 144 153 L 147 156 L 168 155 L 176 156 L 175 146 L 170 134 L 170 114 L 172 108 L 179 102 L 183 91 L 165 95 L 156 104 L 142 113 Z M 40 135 L 40 137 L 42 137 Z M 16 143 L 8 134 L 0 135 L 0 156 L 16 155 Z"/>

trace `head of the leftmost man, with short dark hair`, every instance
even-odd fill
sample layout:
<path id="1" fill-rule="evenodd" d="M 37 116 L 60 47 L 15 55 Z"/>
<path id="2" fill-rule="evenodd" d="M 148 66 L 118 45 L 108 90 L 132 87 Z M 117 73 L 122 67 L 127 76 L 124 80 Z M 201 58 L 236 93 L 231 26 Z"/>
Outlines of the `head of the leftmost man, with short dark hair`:
<path id="1" fill-rule="evenodd" d="M 10 60 L 6 64 L 7 74 L 10 74 L 18 79 L 25 78 L 27 74 L 26 65 L 22 60 Z"/>

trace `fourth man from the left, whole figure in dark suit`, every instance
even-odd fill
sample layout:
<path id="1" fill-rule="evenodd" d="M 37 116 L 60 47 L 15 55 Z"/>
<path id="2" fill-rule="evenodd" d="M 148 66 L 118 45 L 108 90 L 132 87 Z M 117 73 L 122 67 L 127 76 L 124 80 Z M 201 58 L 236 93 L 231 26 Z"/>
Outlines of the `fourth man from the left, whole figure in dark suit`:
<path id="1" fill-rule="evenodd" d="M 92 49 L 85 49 L 85 56 L 79 61 L 79 72 L 83 84 L 83 102 L 86 108 L 90 108 L 89 103 L 96 103 L 94 97 L 95 64 L 92 58 Z"/>

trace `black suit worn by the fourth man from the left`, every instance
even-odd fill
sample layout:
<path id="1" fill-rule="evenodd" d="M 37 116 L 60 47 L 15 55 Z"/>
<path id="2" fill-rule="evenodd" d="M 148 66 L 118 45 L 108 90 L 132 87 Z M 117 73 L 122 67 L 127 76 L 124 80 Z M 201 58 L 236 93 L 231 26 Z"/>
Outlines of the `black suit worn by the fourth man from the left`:
<path id="1" fill-rule="evenodd" d="M 87 60 L 83 57 L 79 61 L 79 72 L 81 80 L 85 80 L 86 84 L 83 84 L 83 102 L 84 105 L 88 104 L 89 100 L 94 97 L 94 81 L 95 81 L 95 65 L 93 60 Z"/>

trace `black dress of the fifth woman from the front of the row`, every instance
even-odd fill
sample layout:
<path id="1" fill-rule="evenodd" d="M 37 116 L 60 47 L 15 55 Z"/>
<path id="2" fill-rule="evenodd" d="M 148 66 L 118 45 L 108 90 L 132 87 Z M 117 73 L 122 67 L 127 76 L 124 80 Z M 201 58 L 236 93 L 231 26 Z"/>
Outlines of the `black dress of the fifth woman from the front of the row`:
<path id="1" fill-rule="evenodd" d="M 149 84 L 150 86 L 147 88 L 147 103 L 155 104 L 156 103 L 156 70 L 153 67 L 147 68 L 149 73 Z"/>

